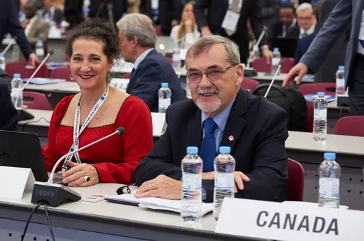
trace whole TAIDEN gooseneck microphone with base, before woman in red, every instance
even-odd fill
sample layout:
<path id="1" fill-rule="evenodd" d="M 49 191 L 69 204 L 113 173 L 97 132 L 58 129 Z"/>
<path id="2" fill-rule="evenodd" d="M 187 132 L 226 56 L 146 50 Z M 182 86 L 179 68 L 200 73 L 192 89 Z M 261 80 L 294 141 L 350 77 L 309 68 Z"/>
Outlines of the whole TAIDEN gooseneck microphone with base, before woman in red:
<path id="1" fill-rule="evenodd" d="M 124 127 L 118 127 L 112 134 L 109 134 L 108 136 L 105 136 L 103 138 L 100 138 L 99 140 L 91 142 L 90 144 L 87 144 L 86 146 L 81 147 L 80 149 L 77 149 L 73 152 L 63 155 L 59 160 L 57 160 L 57 162 L 53 166 L 52 172 L 49 175 L 48 182 L 36 181 L 36 183 L 34 183 L 33 193 L 31 194 L 31 203 L 39 203 L 40 201 L 46 201 L 52 207 L 57 207 L 62 203 L 66 203 L 68 201 L 79 201 L 79 199 L 81 199 L 80 194 L 78 194 L 77 192 L 73 191 L 70 188 L 67 188 L 66 186 L 53 183 L 55 168 L 57 168 L 57 166 L 62 162 L 62 160 L 64 160 L 69 155 L 73 155 L 112 136 L 115 135 L 120 136 L 124 134 L 124 132 L 125 132 Z"/>

